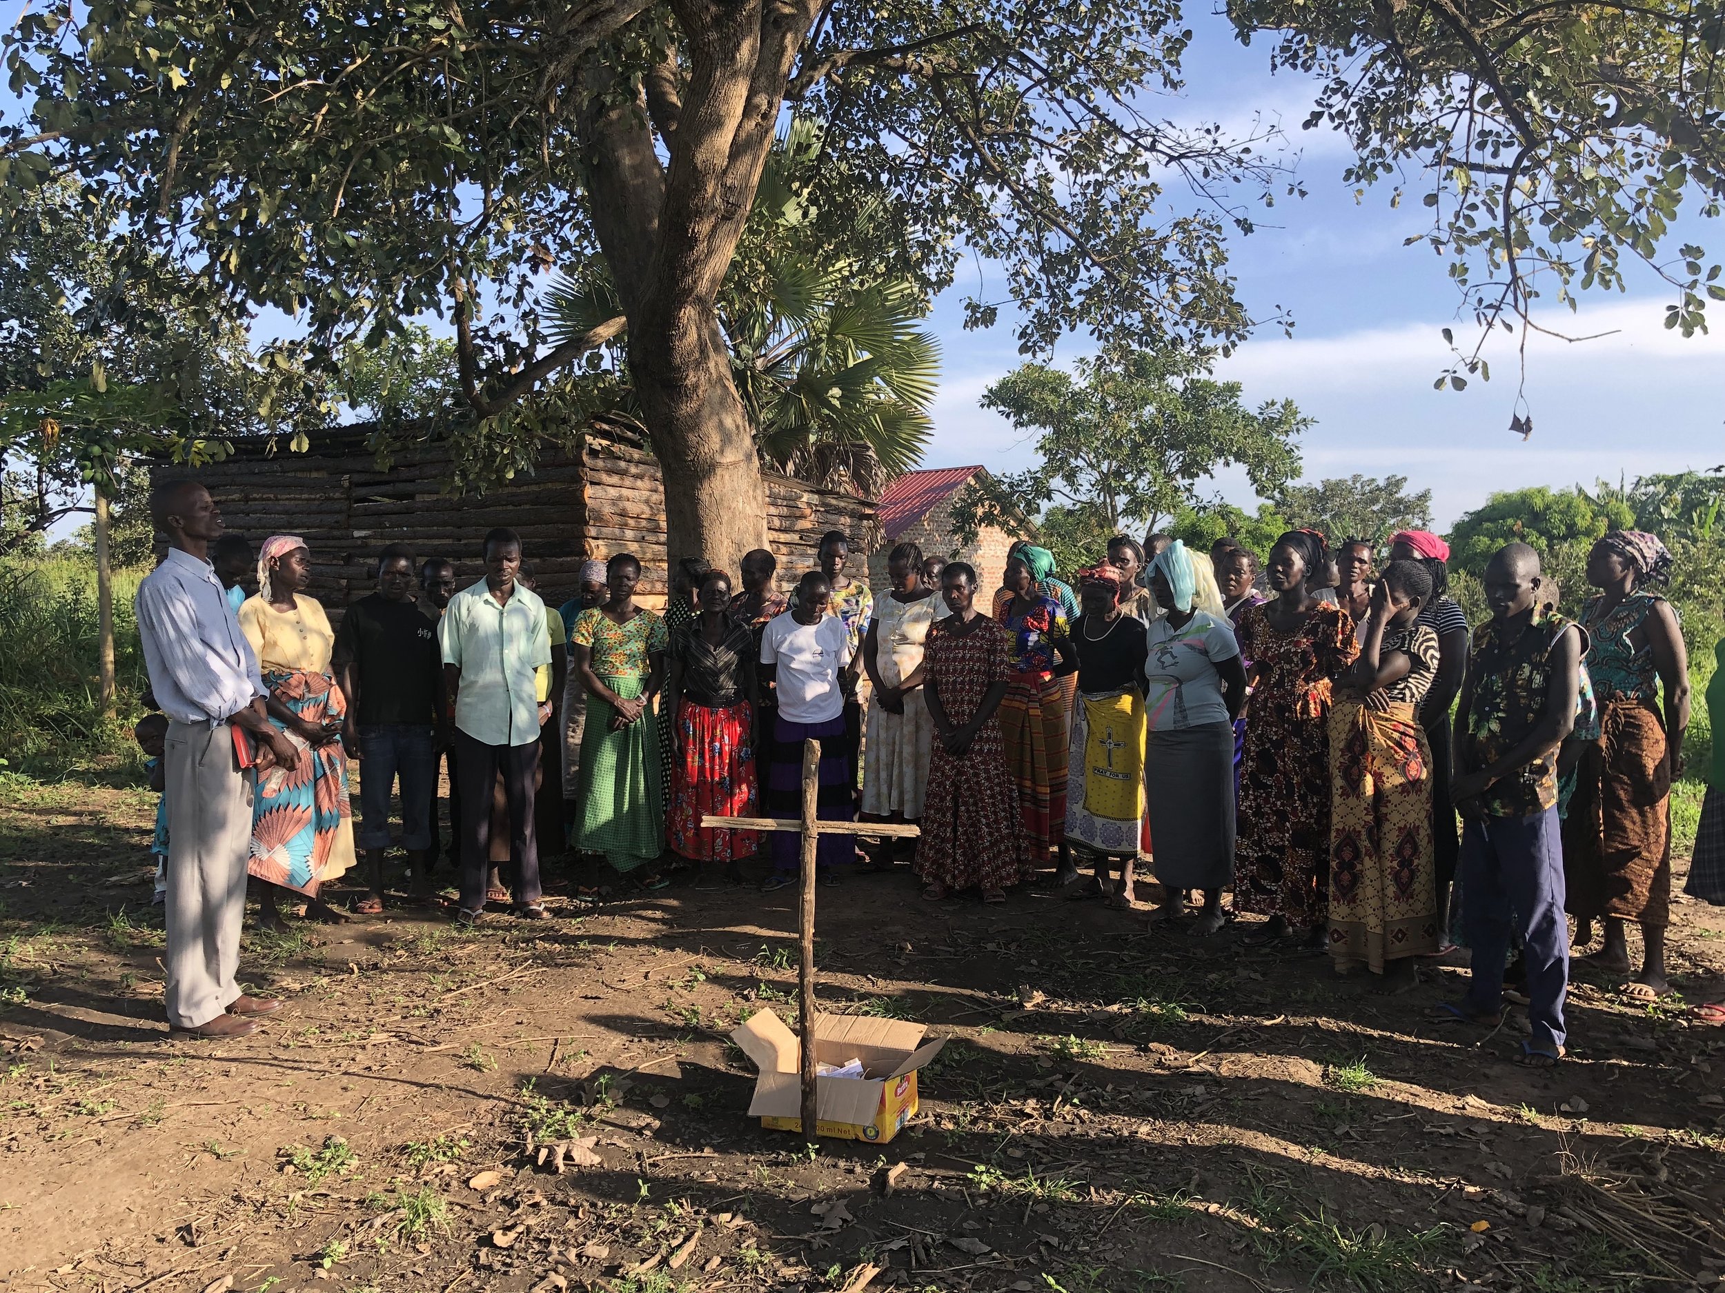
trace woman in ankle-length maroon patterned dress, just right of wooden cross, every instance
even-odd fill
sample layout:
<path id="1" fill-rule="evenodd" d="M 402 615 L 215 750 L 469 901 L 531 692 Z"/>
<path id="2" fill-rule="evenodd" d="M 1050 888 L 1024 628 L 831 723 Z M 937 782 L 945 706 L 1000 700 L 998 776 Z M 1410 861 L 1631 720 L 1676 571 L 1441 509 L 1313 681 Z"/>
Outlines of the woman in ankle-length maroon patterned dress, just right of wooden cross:
<path id="1" fill-rule="evenodd" d="M 983 902 L 1006 902 L 1007 886 L 1030 876 L 999 721 L 1013 678 L 1013 636 L 976 612 L 976 571 L 966 562 L 940 572 L 940 593 L 952 615 L 928 629 L 923 664 L 911 676 L 926 688 L 935 722 L 916 871 L 930 902 L 968 888 L 980 888 Z"/>

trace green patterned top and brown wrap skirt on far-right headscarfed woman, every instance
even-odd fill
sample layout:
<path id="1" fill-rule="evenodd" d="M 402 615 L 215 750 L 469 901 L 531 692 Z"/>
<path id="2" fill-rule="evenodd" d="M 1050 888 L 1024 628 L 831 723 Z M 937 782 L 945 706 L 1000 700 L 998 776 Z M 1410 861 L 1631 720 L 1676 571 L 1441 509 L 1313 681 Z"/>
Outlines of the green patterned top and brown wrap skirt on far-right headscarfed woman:
<path id="1" fill-rule="evenodd" d="M 1659 672 L 1653 646 L 1632 641 L 1663 600 L 1635 591 L 1609 610 L 1603 597 L 1582 607 L 1601 740 L 1575 765 L 1563 822 L 1565 907 L 1577 921 L 1670 919 L 1672 765 Z"/>

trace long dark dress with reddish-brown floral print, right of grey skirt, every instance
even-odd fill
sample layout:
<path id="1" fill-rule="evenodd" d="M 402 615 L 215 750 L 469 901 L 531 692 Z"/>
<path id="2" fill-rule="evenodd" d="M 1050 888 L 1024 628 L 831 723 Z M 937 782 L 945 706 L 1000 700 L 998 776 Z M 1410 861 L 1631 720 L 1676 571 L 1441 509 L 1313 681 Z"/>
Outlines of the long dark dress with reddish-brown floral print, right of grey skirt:
<path id="1" fill-rule="evenodd" d="M 1237 633 L 1258 669 L 1240 762 L 1233 905 L 1294 926 L 1328 917 L 1330 688 L 1359 655 L 1352 617 L 1320 602 L 1299 628 L 1251 607 Z"/>

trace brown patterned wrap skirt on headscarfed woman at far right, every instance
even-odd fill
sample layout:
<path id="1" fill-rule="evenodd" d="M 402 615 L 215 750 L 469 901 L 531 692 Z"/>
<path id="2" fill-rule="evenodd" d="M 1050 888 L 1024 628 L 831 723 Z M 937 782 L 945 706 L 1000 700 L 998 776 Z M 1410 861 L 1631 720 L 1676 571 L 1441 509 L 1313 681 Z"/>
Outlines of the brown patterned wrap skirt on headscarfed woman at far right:
<path id="1" fill-rule="evenodd" d="M 1672 771 L 1665 721 L 1644 700 L 1599 710 L 1599 741 L 1575 765 L 1563 821 L 1563 881 L 1577 921 L 1670 921 Z"/>

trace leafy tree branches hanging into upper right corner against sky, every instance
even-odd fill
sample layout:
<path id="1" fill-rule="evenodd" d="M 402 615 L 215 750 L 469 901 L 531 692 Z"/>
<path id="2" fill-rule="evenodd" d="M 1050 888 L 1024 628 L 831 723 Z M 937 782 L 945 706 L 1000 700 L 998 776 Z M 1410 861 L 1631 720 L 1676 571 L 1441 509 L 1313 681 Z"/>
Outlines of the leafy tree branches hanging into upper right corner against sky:
<path id="1" fill-rule="evenodd" d="M 1720 0 L 1230 0 L 1242 40 L 1320 79 L 1308 128 L 1358 148 L 1347 181 L 1413 188 L 1480 340 L 1439 386 L 1489 378 L 1480 343 L 1535 300 L 1570 309 L 1637 264 L 1673 293 L 1666 328 L 1706 328 L 1725 300 L 1716 255 L 1672 233 L 1685 202 L 1725 200 Z M 1685 216 L 1684 224 L 1692 228 Z M 1515 429 L 1530 431 L 1520 414 Z"/>

